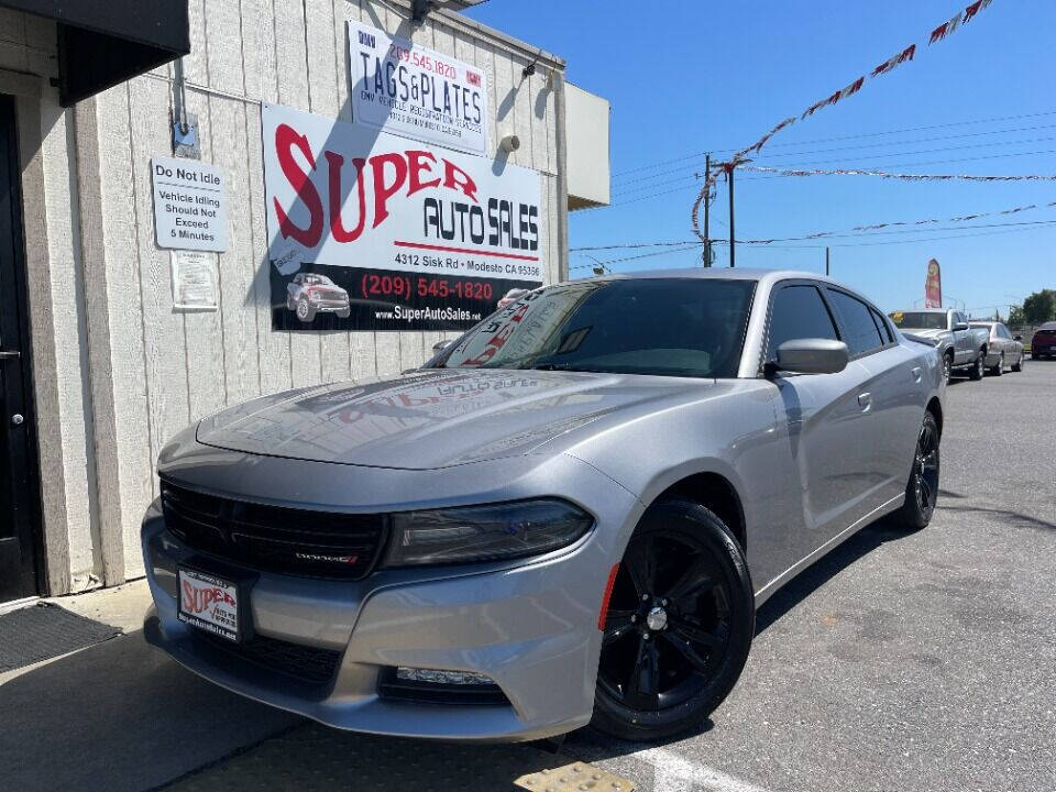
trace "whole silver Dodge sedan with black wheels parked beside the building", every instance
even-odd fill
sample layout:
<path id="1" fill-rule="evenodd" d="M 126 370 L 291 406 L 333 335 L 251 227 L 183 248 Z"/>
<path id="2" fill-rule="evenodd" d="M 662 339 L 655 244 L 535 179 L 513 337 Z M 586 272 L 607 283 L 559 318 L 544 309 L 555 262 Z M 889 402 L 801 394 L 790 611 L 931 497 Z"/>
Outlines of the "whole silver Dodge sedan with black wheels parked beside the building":
<path id="1" fill-rule="evenodd" d="M 678 734 L 779 586 L 879 517 L 927 525 L 944 394 L 931 344 L 815 275 L 538 289 L 419 371 L 178 435 L 144 635 L 340 728 Z"/>

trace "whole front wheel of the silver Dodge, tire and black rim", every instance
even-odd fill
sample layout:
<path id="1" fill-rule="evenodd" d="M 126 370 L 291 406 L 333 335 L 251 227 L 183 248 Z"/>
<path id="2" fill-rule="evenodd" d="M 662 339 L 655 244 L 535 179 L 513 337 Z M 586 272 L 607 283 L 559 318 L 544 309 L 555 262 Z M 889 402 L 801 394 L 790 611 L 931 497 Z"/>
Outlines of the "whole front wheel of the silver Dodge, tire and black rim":
<path id="1" fill-rule="evenodd" d="M 613 586 L 592 724 L 627 740 L 700 725 L 737 683 L 755 620 L 748 565 L 729 528 L 691 501 L 657 502 Z"/>

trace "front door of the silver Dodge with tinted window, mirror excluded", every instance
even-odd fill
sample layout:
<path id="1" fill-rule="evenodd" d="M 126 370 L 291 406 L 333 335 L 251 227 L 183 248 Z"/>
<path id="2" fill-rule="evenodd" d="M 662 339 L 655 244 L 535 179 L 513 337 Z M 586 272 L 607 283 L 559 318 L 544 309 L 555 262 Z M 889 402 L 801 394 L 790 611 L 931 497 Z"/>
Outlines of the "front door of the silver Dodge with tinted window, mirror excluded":
<path id="1" fill-rule="evenodd" d="M 835 320 L 813 282 L 785 282 L 770 304 L 766 360 L 778 346 L 802 338 L 839 339 Z M 805 558 L 855 522 L 861 514 L 862 432 L 870 416 L 860 399 L 868 374 L 850 363 L 836 374 L 778 371 L 778 431 L 789 454 L 783 488 L 799 494 L 788 515 L 788 565 Z"/>

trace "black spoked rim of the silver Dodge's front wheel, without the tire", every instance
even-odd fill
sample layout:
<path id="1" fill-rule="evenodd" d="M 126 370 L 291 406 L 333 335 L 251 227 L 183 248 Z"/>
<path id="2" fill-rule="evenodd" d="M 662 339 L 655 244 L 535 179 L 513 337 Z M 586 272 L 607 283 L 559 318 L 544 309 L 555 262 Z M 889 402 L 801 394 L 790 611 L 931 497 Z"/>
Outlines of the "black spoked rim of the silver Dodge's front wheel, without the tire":
<path id="1" fill-rule="evenodd" d="M 730 603 L 727 572 L 703 543 L 674 532 L 631 539 L 609 600 L 598 685 L 639 712 L 693 697 L 728 653 Z"/>

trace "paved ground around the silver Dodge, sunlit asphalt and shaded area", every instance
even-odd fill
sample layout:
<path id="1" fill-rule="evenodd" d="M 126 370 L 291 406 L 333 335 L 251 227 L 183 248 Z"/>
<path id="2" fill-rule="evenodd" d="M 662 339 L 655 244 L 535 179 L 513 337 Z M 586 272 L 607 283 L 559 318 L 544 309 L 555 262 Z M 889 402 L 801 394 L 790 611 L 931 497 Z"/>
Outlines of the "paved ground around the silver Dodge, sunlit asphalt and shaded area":
<path id="1" fill-rule="evenodd" d="M 955 380 L 932 525 L 871 526 L 776 594 L 697 734 L 641 746 L 584 729 L 554 754 L 336 732 L 148 649 L 133 584 L 65 601 L 125 635 L 0 678 L 0 789 L 1050 792 L 1054 406 L 1056 362 Z"/>

